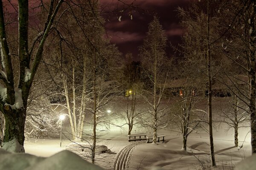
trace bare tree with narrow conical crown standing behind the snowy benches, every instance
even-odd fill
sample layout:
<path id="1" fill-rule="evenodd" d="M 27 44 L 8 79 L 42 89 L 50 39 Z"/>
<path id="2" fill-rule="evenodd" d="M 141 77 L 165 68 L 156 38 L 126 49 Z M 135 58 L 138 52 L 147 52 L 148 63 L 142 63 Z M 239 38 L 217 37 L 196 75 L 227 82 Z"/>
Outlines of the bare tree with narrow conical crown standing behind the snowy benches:
<path id="1" fill-rule="evenodd" d="M 144 99 L 148 104 L 146 112 L 148 117 L 142 122 L 154 131 L 153 143 L 156 143 L 157 130 L 168 125 L 165 119 L 169 114 L 169 99 L 164 100 L 166 80 L 169 76 L 168 59 L 165 54 L 166 36 L 157 17 L 148 26 L 148 33 L 140 48 L 142 58 L 144 81 Z"/>

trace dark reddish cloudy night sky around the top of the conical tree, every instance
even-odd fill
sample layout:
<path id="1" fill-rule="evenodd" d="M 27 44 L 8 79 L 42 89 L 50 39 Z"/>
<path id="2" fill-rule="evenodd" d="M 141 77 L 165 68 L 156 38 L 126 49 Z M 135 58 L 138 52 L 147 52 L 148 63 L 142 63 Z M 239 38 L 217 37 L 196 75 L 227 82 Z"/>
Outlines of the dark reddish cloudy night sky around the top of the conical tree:
<path id="1" fill-rule="evenodd" d="M 175 54 L 175 51 L 170 47 L 177 45 L 181 42 L 182 28 L 179 25 L 179 19 L 177 17 L 178 6 L 186 8 L 189 6 L 192 0 L 124 0 L 126 3 L 133 3 L 135 8 L 128 8 L 123 6 L 122 3 L 118 4 L 118 9 L 124 12 L 106 12 L 102 14 L 105 19 L 105 28 L 108 32 L 108 36 L 111 37 L 111 42 L 116 43 L 119 50 L 126 54 L 131 52 L 134 56 L 134 60 L 139 60 L 138 47 L 142 45 L 143 38 L 148 31 L 148 24 L 153 19 L 154 14 L 160 19 L 160 23 L 168 36 L 168 48 L 167 55 L 170 57 Z M 116 8 L 117 0 L 100 0 L 100 3 L 108 4 L 112 8 L 105 8 L 103 11 L 111 11 Z M 129 14 L 132 14 L 131 16 Z M 121 22 L 118 18 L 121 17 Z"/>

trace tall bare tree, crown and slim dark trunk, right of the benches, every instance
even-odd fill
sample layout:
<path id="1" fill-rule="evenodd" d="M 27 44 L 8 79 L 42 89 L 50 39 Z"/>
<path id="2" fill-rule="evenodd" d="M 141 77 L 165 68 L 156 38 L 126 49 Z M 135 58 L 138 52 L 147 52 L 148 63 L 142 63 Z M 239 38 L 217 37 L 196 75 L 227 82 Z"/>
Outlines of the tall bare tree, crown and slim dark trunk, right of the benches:
<path id="1" fill-rule="evenodd" d="M 183 50 L 185 56 L 192 62 L 198 62 L 201 65 L 197 68 L 200 81 L 205 84 L 207 92 L 208 107 L 208 125 L 209 125 L 209 143 L 211 152 L 212 167 L 216 165 L 214 156 L 214 144 L 212 136 L 212 85 L 216 75 L 223 67 L 224 58 L 214 46 L 218 45 L 218 7 L 221 3 L 218 0 L 205 0 L 193 3 L 193 8 L 189 11 L 179 9 L 181 24 L 185 28 L 183 40 Z M 215 4 L 215 5 L 213 5 Z M 218 5 L 216 5 L 218 4 Z M 214 6 L 214 8 L 210 8 Z"/>

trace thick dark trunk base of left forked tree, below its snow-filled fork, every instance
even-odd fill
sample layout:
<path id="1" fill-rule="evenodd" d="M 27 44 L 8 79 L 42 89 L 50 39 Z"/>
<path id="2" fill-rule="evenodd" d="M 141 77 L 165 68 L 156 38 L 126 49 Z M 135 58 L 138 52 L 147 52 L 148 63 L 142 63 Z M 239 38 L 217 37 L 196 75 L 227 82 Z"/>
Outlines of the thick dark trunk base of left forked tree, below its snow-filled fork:
<path id="1" fill-rule="evenodd" d="M 24 145 L 24 128 L 26 121 L 26 109 L 14 109 L 12 110 L 10 106 L 6 105 L 4 109 L 5 115 L 5 131 L 3 142 L 9 142 L 12 139 L 17 139 L 17 141 Z"/>

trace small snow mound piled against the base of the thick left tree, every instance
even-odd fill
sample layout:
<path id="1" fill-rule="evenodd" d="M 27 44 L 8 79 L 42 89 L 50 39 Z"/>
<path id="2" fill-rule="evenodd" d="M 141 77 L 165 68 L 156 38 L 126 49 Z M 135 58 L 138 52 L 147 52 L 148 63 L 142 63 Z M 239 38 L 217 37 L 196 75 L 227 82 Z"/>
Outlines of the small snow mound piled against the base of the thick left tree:
<path id="1" fill-rule="evenodd" d="M 1 147 L 4 150 L 7 150 L 12 153 L 24 153 L 25 149 L 24 147 L 17 141 L 17 139 L 12 139 L 9 142 L 3 143 L 3 147 Z"/>

